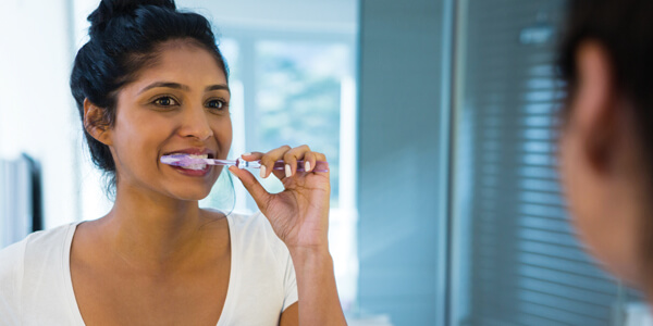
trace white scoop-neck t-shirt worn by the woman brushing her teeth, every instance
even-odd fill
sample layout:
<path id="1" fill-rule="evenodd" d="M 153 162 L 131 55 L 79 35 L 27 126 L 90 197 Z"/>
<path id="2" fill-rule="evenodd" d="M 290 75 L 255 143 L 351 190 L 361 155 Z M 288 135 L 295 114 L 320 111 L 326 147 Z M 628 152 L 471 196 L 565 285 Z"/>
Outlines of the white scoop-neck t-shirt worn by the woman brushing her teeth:
<path id="1" fill-rule="evenodd" d="M 297 301 L 288 250 L 261 213 L 226 218 L 232 261 L 218 326 L 278 325 Z M 34 233 L 0 251 L 0 325 L 84 325 L 70 268 L 77 224 Z"/>

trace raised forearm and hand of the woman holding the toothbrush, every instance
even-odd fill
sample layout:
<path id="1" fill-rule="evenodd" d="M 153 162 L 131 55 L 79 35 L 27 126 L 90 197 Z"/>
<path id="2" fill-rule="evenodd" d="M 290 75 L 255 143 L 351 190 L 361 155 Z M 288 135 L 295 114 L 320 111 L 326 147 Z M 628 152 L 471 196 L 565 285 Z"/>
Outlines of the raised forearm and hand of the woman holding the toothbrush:
<path id="1" fill-rule="evenodd" d="M 261 160 L 261 165 L 267 167 L 261 168 L 261 177 L 274 173 L 285 187 L 280 193 L 269 193 L 251 173 L 230 167 L 286 244 L 295 265 L 299 301 L 282 314 L 281 325 L 297 325 L 294 321 L 298 321 L 298 325 L 346 325 L 329 253 L 329 173 L 296 172 L 294 167 L 297 160 L 308 161 L 315 167 L 317 161 L 325 161 L 324 155 L 303 146 L 282 147 L 243 159 Z M 291 171 L 273 171 L 278 160 L 285 161 Z"/>

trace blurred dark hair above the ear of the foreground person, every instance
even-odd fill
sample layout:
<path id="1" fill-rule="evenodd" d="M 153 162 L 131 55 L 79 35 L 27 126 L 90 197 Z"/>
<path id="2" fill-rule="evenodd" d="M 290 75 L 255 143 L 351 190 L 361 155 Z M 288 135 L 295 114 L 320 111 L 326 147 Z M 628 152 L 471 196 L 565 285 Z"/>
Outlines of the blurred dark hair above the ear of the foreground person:
<path id="1" fill-rule="evenodd" d="M 579 46 L 599 42 L 611 60 L 616 90 L 632 104 L 645 152 L 653 153 L 653 1 L 570 0 L 568 10 L 558 67 L 569 98 L 579 83 Z M 653 156 L 646 159 L 653 163 Z"/>

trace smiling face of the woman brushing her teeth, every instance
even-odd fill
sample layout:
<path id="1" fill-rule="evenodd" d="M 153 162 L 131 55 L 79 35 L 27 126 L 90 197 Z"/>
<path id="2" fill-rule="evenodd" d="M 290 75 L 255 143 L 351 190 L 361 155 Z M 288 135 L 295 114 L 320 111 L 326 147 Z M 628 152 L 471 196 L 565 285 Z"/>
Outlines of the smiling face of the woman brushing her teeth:
<path id="1" fill-rule="evenodd" d="M 226 77 L 214 57 L 188 41 L 164 43 L 157 64 L 139 72 L 118 96 L 110 130 L 118 196 L 132 188 L 180 200 L 207 197 L 221 166 L 186 170 L 160 159 L 171 153 L 226 159 L 229 101 Z"/>

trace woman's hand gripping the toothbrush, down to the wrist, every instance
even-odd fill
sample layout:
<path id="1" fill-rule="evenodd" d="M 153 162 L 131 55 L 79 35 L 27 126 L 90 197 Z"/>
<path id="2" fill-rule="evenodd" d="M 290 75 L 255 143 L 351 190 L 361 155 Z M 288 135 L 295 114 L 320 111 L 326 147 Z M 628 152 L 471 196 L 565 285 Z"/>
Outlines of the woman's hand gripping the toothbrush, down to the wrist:
<path id="1" fill-rule="evenodd" d="M 270 193 L 249 171 L 236 166 L 229 168 L 241 179 L 288 249 L 328 250 L 331 185 L 328 172 L 313 172 L 317 161 L 326 161 L 324 154 L 311 151 L 306 145 L 297 148 L 284 146 L 267 153 L 243 155 L 243 160 L 260 160 L 261 177 L 273 173 L 283 183 L 284 191 Z M 280 160 L 286 164 L 285 171 L 272 170 Z M 297 161 L 300 160 L 309 163 L 306 172 L 297 172 Z"/>

